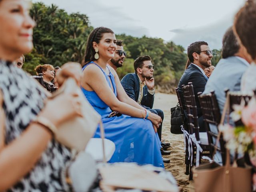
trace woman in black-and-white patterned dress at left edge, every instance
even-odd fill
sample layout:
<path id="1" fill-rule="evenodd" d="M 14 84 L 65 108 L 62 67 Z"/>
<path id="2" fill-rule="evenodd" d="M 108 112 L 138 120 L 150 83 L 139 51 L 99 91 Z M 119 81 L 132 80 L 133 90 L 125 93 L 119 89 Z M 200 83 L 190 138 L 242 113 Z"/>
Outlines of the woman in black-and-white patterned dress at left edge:
<path id="1" fill-rule="evenodd" d="M 12 64 L 33 47 L 29 8 L 28 0 L 0 0 L 0 191 L 64 191 L 60 172 L 71 154 L 50 127 L 80 115 L 80 102 L 76 94 L 45 102 L 44 88 Z M 78 81 L 80 66 L 63 76 Z"/>

